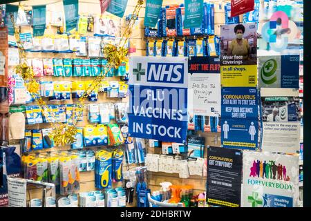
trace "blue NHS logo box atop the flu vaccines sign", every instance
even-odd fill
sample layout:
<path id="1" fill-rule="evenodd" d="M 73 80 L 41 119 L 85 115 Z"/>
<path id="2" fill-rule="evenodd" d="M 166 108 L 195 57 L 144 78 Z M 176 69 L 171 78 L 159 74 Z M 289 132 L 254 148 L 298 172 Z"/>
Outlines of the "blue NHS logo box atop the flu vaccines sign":
<path id="1" fill-rule="evenodd" d="M 147 82 L 184 84 L 183 63 L 148 63 Z"/>

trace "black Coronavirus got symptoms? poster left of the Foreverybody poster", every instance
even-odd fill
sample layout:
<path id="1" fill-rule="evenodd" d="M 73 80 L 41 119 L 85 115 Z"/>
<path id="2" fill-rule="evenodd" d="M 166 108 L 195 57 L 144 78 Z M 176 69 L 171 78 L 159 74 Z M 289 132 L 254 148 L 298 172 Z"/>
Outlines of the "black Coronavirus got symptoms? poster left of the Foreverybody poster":
<path id="1" fill-rule="evenodd" d="M 207 148 L 207 204 L 241 206 L 242 155 L 234 149 Z"/>

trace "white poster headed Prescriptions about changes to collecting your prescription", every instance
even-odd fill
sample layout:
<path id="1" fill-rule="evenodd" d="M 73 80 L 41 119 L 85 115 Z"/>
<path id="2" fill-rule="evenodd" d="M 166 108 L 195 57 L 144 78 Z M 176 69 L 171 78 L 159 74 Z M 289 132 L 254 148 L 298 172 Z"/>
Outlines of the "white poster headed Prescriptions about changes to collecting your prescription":
<path id="1" fill-rule="evenodd" d="M 296 153 L 300 144 L 299 91 L 261 88 L 263 151 Z"/>

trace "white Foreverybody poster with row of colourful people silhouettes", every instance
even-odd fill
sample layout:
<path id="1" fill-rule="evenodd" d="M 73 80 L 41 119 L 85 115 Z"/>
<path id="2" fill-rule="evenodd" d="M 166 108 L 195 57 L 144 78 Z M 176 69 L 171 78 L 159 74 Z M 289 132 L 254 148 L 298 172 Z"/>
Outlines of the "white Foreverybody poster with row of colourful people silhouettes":
<path id="1" fill-rule="evenodd" d="M 299 156 L 243 152 L 243 207 L 297 207 Z"/>

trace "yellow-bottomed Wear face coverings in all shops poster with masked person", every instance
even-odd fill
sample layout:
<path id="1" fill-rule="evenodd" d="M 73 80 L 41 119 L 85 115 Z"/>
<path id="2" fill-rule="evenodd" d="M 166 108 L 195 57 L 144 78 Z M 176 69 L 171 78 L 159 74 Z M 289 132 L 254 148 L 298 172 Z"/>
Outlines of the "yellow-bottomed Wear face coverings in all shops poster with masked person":
<path id="1" fill-rule="evenodd" d="M 224 25 L 220 36 L 222 86 L 256 87 L 257 24 Z"/>

